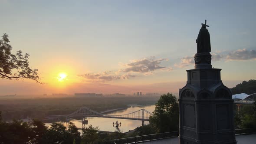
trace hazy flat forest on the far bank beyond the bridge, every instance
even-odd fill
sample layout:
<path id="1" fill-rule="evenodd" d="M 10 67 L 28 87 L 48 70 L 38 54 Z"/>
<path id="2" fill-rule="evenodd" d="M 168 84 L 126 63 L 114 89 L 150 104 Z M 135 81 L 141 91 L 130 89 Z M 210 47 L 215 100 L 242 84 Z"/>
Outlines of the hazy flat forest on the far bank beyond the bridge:
<path id="1" fill-rule="evenodd" d="M 5 121 L 12 119 L 45 119 L 46 115 L 69 115 L 86 106 L 94 111 L 128 108 L 129 104 L 154 105 L 159 97 L 92 97 L 92 98 L 0 98 Z"/>

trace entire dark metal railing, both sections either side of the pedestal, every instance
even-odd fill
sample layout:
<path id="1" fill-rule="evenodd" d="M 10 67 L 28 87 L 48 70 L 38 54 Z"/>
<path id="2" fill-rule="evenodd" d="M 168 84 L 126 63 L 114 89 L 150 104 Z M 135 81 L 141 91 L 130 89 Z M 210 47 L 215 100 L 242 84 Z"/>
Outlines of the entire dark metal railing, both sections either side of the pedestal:
<path id="1" fill-rule="evenodd" d="M 253 134 L 256 133 L 256 128 L 244 128 L 244 129 L 236 129 L 235 134 Z M 160 134 L 149 134 L 149 135 L 142 135 L 138 137 L 127 137 L 127 138 L 120 138 L 118 141 L 113 140 L 116 144 L 137 144 L 146 141 L 154 141 L 164 138 L 170 137 L 177 137 L 179 135 L 179 131 L 172 131 Z"/>

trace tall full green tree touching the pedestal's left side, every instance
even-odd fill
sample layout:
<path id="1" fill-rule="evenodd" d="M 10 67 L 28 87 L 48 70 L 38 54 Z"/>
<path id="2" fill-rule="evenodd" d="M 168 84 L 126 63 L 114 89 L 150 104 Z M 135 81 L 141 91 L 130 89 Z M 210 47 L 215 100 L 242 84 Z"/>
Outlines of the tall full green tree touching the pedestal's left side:
<path id="1" fill-rule="evenodd" d="M 179 106 L 177 98 L 170 93 L 161 95 L 149 122 L 159 133 L 178 131 Z"/>

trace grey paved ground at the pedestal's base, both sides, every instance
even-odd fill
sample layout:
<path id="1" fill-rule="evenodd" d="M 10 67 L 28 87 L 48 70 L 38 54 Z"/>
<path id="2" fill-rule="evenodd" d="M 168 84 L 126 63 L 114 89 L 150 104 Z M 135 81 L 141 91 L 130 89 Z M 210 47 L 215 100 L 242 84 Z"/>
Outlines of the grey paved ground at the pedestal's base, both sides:
<path id="1" fill-rule="evenodd" d="M 236 141 L 237 144 L 256 144 L 256 134 L 236 135 Z M 179 138 L 166 138 L 158 141 L 144 142 L 143 144 L 179 144 Z"/>

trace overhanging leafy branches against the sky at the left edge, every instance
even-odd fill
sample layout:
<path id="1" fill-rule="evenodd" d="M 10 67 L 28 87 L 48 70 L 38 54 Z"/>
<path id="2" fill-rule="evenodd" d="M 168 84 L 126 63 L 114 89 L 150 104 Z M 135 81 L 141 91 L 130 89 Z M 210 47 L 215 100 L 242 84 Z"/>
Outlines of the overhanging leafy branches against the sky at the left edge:
<path id="1" fill-rule="evenodd" d="M 12 46 L 9 44 L 8 35 L 3 34 L 0 40 L 0 78 L 2 79 L 33 79 L 39 82 L 37 69 L 31 69 L 29 66 L 29 54 L 24 56 L 22 51 L 17 51 L 14 55 L 11 53 Z"/>

